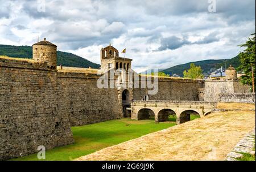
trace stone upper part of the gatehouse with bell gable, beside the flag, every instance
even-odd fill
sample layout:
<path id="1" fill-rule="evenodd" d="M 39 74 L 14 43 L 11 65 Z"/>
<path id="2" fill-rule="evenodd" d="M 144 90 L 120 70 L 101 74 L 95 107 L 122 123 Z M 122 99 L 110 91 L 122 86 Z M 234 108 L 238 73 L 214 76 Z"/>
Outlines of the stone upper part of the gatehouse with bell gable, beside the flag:
<path id="1" fill-rule="evenodd" d="M 132 59 L 119 57 L 118 50 L 109 45 L 101 49 L 101 69 L 108 71 L 112 68 L 118 70 L 131 68 Z"/>

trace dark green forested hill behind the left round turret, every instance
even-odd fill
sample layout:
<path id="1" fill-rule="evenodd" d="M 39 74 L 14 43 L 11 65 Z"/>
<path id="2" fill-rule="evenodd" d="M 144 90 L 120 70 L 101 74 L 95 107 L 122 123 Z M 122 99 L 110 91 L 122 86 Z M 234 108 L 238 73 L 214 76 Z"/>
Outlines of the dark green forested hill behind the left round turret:
<path id="1" fill-rule="evenodd" d="M 32 46 L 0 45 L 0 55 L 18 58 L 32 58 Z M 99 57 L 100 58 L 100 57 Z M 78 55 L 57 51 L 57 65 L 69 67 L 99 68 L 100 65 L 90 62 Z"/>

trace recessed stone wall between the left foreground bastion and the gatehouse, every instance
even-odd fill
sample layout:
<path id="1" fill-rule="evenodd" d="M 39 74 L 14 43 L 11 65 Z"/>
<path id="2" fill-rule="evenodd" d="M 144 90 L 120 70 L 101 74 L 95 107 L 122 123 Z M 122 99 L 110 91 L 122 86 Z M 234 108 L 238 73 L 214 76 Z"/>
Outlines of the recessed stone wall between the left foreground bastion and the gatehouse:
<path id="1" fill-rule="evenodd" d="M 98 88 L 97 78 L 82 74 L 59 74 L 71 126 L 123 118 L 117 89 Z M 121 93 L 122 94 L 122 93 Z"/>

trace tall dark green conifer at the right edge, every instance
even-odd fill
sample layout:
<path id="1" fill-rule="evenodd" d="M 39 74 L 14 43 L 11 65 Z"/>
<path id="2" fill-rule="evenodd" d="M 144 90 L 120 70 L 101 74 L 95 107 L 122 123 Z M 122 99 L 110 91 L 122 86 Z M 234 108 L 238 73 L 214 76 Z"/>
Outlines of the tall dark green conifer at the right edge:
<path id="1" fill-rule="evenodd" d="M 241 77 L 241 82 L 243 84 L 253 85 L 254 74 L 255 85 L 255 33 L 251 34 L 251 36 L 253 37 L 249 37 L 245 44 L 238 45 L 246 48 L 239 54 L 241 65 L 238 67 L 238 70 L 245 73 L 245 75 Z"/>

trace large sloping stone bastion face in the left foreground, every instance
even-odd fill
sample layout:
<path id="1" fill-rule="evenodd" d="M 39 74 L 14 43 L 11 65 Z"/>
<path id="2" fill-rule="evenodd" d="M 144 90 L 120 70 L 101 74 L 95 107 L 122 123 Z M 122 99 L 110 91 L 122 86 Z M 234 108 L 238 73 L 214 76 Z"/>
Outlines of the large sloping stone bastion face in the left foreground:
<path id="1" fill-rule="evenodd" d="M 27 62 L 5 60 L 0 66 L 0 160 L 36 153 L 40 145 L 72 144 L 56 72 Z"/>

